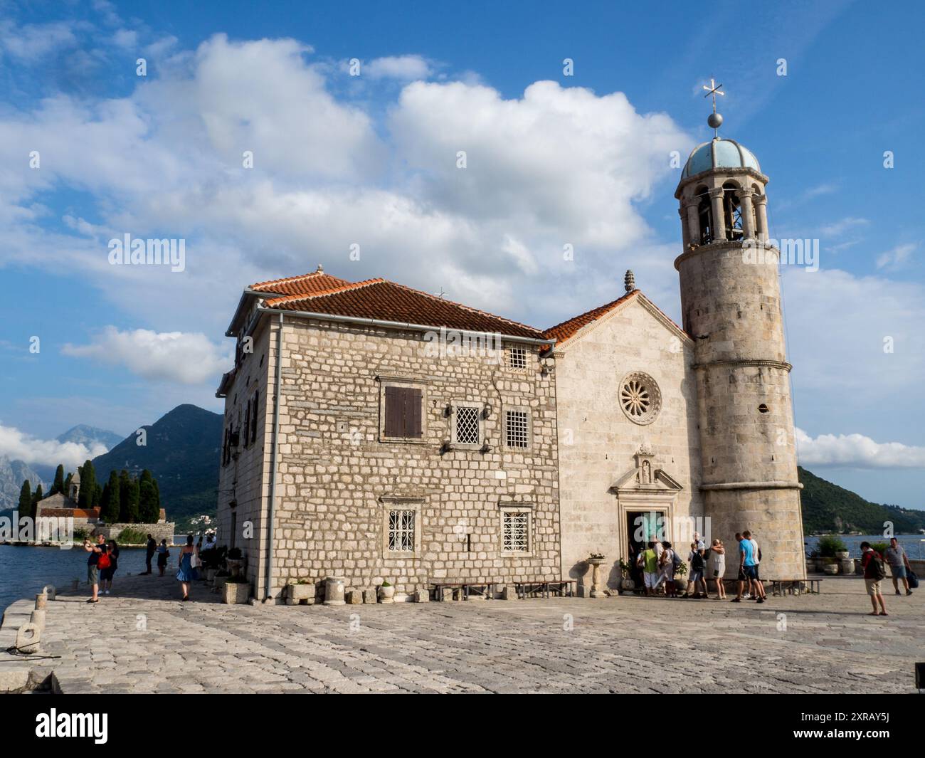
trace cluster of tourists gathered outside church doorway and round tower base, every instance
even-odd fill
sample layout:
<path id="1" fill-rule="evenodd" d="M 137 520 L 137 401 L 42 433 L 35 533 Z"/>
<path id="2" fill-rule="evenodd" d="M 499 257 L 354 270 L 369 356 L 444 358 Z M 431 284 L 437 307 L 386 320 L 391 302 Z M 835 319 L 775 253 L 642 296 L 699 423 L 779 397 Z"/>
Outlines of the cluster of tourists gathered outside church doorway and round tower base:
<path id="1" fill-rule="evenodd" d="M 750 531 L 735 534 L 738 547 L 739 572 L 738 593 L 733 603 L 752 599 L 756 603 L 764 603 L 768 597 L 764 585 L 759 577 L 759 564 L 761 551 L 758 542 L 754 540 Z M 687 578 L 679 573 L 681 554 L 669 541 L 649 541 L 641 548 L 635 557 L 635 567 L 642 577 L 642 586 L 647 597 L 652 597 L 664 591 L 665 597 L 693 598 L 705 600 L 709 598 L 708 578 L 715 584 L 717 600 L 726 600 L 726 588 L 723 576 L 726 573 L 726 547 L 722 540 L 713 540 L 707 543 L 697 532 L 694 541 L 690 543 L 687 553 Z M 683 591 L 682 591 L 683 590 Z M 679 594 L 679 591 L 682 591 Z"/>

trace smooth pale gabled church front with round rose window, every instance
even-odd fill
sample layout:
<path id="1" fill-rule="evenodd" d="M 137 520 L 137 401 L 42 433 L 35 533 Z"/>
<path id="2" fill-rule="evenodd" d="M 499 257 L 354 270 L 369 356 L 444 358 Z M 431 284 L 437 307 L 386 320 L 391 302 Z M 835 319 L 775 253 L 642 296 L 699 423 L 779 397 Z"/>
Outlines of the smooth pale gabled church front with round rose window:
<path id="1" fill-rule="evenodd" d="M 637 292 L 557 344 L 555 358 L 562 577 L 586 594 L 586 558 L 604 553 L 601 578 L 617 589 L 632 514 L 659 514 L 671 540 L 682 536 L 672 529 L 678 516 L 703 516 L 693 342 Z M 623 379 L 634 372 L 660 394 L 658 415 L 644 424 L 621 407 Z M 647 461 L 648 475 L 635 476 Z"/>

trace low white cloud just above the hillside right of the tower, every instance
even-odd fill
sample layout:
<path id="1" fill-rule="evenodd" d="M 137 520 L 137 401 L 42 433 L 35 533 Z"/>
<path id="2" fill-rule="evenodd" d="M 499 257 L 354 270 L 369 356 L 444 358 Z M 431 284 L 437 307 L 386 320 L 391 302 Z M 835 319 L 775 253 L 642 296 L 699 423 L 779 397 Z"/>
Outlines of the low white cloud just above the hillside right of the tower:
<path id="1" fill-rule="evenodd" d="M 796 450 L 801 466 L 925 468 L 925 447 L 875 442 L 863 434 L 820 434 L 812 438 L 796 429 Z"/>

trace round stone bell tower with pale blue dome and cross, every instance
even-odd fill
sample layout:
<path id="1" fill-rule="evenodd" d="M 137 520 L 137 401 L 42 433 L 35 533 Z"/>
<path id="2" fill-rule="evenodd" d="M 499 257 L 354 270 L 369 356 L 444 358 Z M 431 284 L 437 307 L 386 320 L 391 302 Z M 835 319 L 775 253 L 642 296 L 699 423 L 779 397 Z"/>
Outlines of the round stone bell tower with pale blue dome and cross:
<path id="1" fill-rule="evenodd" d="M 722 124 L 715 103 L 708 123 L 714 130 Z M 734 534 L 748 529 L 761 548 L 762 578 L 801 579 L 806 560 L 791 366 L 780 251 L 768 238 L 767 185 L 743 145 L 718 134 L 698 145 L 674 193 L 684 241 L 674 267 L 684 328 L 696 342 L 700 489 L 709 535 L 729 553 L 726 577 L 738 569 Z"/>

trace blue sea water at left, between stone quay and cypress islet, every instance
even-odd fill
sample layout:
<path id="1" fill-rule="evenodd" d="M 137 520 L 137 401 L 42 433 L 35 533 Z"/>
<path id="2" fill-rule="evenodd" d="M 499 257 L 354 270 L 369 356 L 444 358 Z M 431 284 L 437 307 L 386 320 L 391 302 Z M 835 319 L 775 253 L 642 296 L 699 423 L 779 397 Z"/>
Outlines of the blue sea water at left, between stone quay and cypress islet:
<path id="1" fill-rule="evenodd" d="M 80 545 L 70 550 L 0 545 L 0 613 L 9 603 L 34 598 L 46 584 L 70 590 L 71 579 L 75 578 L 80 579 L 80 591 L 89 597 L 87 558 L 88 553 Z M 140 574 L 142 571 L 144 548 L 120 548 L 113 589 L 118 586 L 119 574 Z"/>

